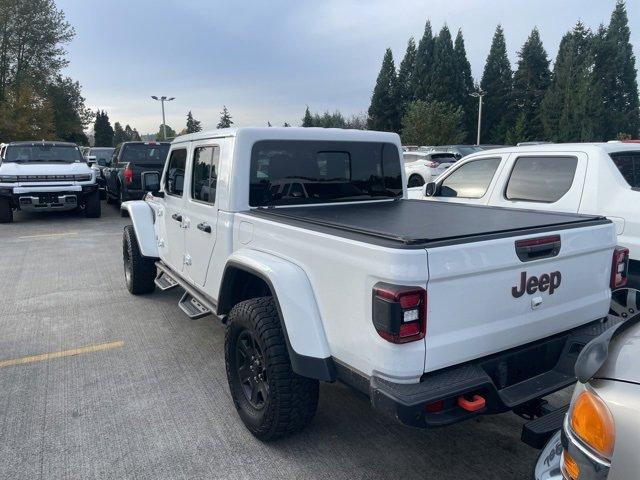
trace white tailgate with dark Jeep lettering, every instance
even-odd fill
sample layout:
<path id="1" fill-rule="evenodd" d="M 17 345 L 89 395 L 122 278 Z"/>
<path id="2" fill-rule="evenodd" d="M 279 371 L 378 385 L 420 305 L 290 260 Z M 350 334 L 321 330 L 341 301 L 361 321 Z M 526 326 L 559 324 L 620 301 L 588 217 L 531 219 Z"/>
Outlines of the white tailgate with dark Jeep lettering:
<path id="1" fill-rule="evenodd" d="M 540 237 L 559 237 L 559 253 L 519 258 L 516 241 Z M 604 317 L 615 242 L 602 224 L 428 248 L 425 372 Z"/>

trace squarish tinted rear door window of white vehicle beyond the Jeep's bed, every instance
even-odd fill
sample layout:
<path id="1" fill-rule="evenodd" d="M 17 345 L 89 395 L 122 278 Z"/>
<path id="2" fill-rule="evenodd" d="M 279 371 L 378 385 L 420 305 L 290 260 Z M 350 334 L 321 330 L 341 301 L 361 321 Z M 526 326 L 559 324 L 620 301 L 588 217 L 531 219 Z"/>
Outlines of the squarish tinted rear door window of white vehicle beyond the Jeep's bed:
<path id="1" fill-rule="evenodd" d="M 557 202 L 571 188 L 577 165 L 576 157 L 519 157 L 505 196 L 507 200 Z"/>

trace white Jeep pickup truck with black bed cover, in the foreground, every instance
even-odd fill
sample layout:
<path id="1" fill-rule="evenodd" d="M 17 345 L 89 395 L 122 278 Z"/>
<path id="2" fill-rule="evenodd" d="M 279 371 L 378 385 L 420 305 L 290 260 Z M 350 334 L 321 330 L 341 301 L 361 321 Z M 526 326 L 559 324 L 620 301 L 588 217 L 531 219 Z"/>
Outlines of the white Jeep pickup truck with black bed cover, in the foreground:
<path id="1" fill-rule="evenodd" d="M 258 438 L 304 427 L 319 380 L 418 427 L 533 409 L 619 321 L 611 221 L 409 200 L 401 158 L 391 133 L 200 132 L 122 204 L 127 288 L 179 286 L 188 316 L 226 324 L 229 388 Z"/>

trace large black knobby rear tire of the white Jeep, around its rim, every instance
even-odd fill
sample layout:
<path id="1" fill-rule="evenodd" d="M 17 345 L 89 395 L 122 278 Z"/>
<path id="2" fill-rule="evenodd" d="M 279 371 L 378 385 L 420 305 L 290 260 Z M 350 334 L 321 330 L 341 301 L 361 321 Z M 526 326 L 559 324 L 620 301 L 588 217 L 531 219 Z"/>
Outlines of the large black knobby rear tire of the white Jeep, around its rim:
<path id="1" fill-rule="evenodd" d="M 268 386 L 262 408 L 256 408 L 240 380 L 238 345 L 251 336 L 263 357 Z M 278 310 L 272 297 L 253 298 L 233 307 L 225 337 L 229 389 L 238 414 L 262 441 L 276 440 L 302 430 L 318 407 L 318 380 L 293 372 Z M 250 387 L 249 387 L 250 388 Z"/>

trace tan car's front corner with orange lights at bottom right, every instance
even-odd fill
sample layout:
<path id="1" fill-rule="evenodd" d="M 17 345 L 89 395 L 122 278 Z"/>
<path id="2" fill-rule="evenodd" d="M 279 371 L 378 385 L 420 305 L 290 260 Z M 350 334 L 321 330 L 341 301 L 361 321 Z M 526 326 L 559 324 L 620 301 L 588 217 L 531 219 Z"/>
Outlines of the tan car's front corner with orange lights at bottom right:
<path id="1" fill-rule="evenodd" d="M 640 315 L 585 347 L 576 362 L 580 383 L 571 407 L 558 425 L 561 430 L 540 453 L 535 480 L 638 478 L 638 358 Z"/>

